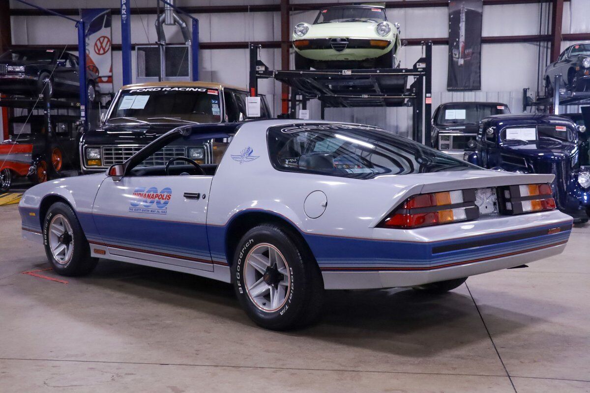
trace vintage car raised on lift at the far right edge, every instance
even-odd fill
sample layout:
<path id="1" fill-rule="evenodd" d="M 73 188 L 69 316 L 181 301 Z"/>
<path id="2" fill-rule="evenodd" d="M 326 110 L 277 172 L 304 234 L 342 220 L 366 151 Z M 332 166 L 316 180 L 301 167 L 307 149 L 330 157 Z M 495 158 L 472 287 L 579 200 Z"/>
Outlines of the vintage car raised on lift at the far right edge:
<path id="1" fill-rule="evenodd" d="M 556 62 L 545 69 L 545 89 L 553 95 L 555 77 L 559 84 L 569 91 L 590 91 L 590 43 L 575 44 L 561 52 Z"/>

